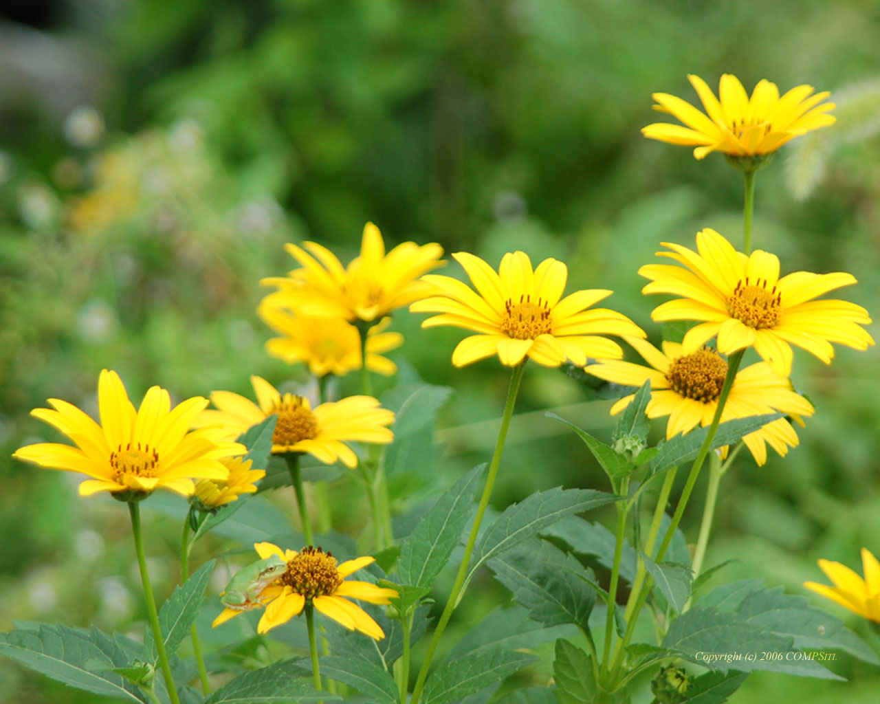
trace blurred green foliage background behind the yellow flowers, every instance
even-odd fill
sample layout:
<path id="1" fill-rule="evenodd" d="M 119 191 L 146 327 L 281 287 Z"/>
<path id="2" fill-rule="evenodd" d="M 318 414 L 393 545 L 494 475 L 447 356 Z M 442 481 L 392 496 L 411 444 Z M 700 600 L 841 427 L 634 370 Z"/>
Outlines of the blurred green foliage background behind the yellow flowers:
<path id="1" fill-rule="evenodd" d="M 389 244 L 437 241 L 493 266 L 517 248 L 535 263 L 554 256 L 568 263 L 569 291 L 614 290 L 608 304 L 656 341 L 658 299 L 641 296 L 635 272 L 659 242 L 693 246 L 706 226 L 741 242 L 738 173 L 720 155 L 697 162 L 639 133 L 656 119 L 651 92 L 696 100 L 687 73 L 832 91 L 838 125 L 759 173 L 754 242 L 781 256 L 783 272 L 852 272 L 859 285 L 842 297 L 876 315 L 878 35 L 880 4 L 857 0 L 10 4 L 0 14 L 0 627 L 143 628 L 121 506 L 80 499 L 75 478 L 9 456 L 57 439 L 27 415 L 48 397 L 93 408 L 104 367 L 135 399 L 153 384 L 180 400 L 250 395 L 252 373 L 303 379 L 265 354 L 270 334 L 254 314 L 260 277 L 293 266 L 286 241 L 315 239 L 347 261 L 372 220 Z M 441 433 L 451 480 L 488 455 L 494 431 L 480 422 L 500 414 L 507 374 L 495 361 L 453 370 L 461 331 L 421 331 L 407 312 L 394 327 L 407 374 L 455 388 Z M 861 546 L 880 553 L 878 353 L 840 348 L 830 367 L 798 353 L 793 378 L 817 413 L 788 458 L 737 461 L 708 564 L 736 558 L 726 578 L 800 594 L 804 580 L 823 580 L 819 557 L 861 571 Z M 534 365 L 518 408 L 532 415 L 514 422 L 496 506 L 559 484 L 605 488 L 583 445 L 543 419 L 559 407 L 609 432 L 607 401 Z M 362 498 L 334 495 L 339 516 Z M 698 521 L 686 516 L 689 539 Z M 179 525 L 153 514 L 150 526 L 162 598 Z M 461 622 L 488 605 L 468 599 Z M 821 605 L 880 648 L 875 628 Z M 847 656 L 832 667 L 851 682 L 755 675 L 731 701 L 876 704 L 880 673 Z M 4 697 L 95 700 L 7 660 Z"/>

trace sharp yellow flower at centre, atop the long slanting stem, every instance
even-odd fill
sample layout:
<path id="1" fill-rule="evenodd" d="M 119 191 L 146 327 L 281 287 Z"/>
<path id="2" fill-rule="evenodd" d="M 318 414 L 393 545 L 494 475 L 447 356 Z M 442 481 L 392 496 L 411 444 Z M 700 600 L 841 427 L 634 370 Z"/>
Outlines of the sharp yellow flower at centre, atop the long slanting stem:
<path id="1" fill-rule="evenodd" d="M 568 268 L 561 261 L 546 259 L 532 271 L 532 261 L 524 252 L 507 253 L 496 274 L 473 254 L 452 256 L 476 292 L 451 276 L 423 276 L 422 281 L 429 282 L 435 293 L 409 310 L 441 313 L 422 322 L 422 327 L 451 325 L 479 333 L 458 343 L 452 353 L 457 367 L 495 354 L 509 367 L 525 356 L 547 367 L 558 367 L 566 359 L 583 366 L 587 357 L 623 355 L 620 345 L 599 335 L 645 336 L 619 312 L 586 310 L 612 291 L 581 290 L 560 300 L 568 278 Z"/>

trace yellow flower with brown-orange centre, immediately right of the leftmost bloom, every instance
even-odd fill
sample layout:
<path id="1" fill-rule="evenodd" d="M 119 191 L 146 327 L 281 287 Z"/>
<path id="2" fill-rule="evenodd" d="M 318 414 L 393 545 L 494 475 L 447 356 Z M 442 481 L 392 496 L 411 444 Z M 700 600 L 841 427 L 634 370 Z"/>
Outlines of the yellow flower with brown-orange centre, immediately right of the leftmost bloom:
<path id="1" fill-rule="evenodd" d="M 302 396 L 282 396 L 263 378 L 251 377 L 251 383 L 259 406 L 238 393 L 216 391 L 211 393 L 211 401 L 219 410 L 202 411 L 196 424 L 219 426 L 226 436 L 238 437 L 277 414 L 272 436 L 275 454 L 308 452 L 327 465 L 339 459 L 349 467 L 357 466 L 357 455 L 345 443 L 387 444 L 394 439 L 386 427 L 394 421 L 393 412 L 370 396 L 348 396 L 312 408 Z"/>

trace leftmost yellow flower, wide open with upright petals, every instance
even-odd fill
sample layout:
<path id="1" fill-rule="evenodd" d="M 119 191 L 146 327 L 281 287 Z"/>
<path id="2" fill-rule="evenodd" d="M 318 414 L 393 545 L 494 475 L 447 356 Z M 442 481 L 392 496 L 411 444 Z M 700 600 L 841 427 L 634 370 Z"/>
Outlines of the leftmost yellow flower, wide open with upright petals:
<path id="1" fill-rule="evenodd" d="M 192 478 L 224 480 L 229 471 L 221 460 L 247 451 L 244 445 L 220 442 L 224 438 L 216 429 L 187 432 L 207 399 L 196 396 L 172 409 L 168 392 L 153 386 L 135 410 L 115 371 L 103 370 L 99 378 L 100 425 L 67 401 L 48 403 L 55 410 L 35 408 L 31 414 L 61 430 L 77 447 L 26 445 L 13 457 L 92 477 L 79 485 L 84 496 L 109 491 L 143 498 L 159 487 L 188 496 L 194 492 Z"/>

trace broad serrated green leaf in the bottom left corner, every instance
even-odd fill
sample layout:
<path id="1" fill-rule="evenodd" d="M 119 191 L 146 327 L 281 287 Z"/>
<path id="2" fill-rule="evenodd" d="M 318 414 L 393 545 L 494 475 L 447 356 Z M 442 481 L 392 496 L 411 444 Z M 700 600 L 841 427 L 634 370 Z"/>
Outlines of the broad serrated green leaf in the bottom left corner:
<path id="1" fill-rule="evenodd" d="M 115 667 L 128 667 L 128 654 L 114 639 L 94 627 L 87 631 L 44 624 L 0 634 L 0 654 L 86 692 L 146 701 L 135 686 L 112 671 Z"/>

